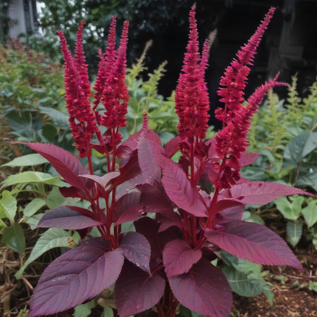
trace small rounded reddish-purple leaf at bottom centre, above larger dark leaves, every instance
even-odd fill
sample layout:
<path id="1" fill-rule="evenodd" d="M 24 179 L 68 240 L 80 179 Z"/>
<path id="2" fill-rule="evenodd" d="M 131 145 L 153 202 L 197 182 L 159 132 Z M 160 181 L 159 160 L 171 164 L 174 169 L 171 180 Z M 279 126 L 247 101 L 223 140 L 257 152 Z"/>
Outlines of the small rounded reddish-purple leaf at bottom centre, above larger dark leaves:
<path id="1" fill-rule="evenodd" d="M 200 250 L 193 250 L 184 240 L 172 240 L 163 250 L 163 263 L 168 277 L 187 273 L 201 258 Z"/>

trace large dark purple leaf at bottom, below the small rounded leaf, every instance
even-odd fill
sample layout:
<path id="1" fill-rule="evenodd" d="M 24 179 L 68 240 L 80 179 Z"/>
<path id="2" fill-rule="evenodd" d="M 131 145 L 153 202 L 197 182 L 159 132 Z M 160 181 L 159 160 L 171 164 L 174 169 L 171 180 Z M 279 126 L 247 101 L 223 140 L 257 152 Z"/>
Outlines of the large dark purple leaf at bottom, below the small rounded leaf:
<path id="1" fill-rule="evenodd" d="M 190 310 L 210 317 L 228 317 L 230 285 L 219 268 L 202 258 L 189 272 L 168 278 L 173 294 Z"/>

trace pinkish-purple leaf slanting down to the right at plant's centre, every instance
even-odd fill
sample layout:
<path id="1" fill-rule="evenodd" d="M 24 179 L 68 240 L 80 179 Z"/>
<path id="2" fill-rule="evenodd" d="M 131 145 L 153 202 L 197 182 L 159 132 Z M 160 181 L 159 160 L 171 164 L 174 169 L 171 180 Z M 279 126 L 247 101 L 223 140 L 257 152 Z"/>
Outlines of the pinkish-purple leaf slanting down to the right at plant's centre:
<path id="1" fill-rule="evenodd" d="M 197 217 L 207 217 L 208 211 L 196 186 L 191 186 L 189 179 L 179 165 L 163 155 L 159 156 L 162 168 L 162 183 L 166 194 L 178 208 L 184 209 Z"/>

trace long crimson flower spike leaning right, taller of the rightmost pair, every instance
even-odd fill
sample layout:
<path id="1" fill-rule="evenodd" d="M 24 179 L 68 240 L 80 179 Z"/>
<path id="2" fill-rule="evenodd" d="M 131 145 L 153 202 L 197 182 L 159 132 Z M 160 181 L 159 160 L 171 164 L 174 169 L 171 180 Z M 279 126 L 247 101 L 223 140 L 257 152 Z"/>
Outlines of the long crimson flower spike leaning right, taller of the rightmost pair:
<path id="1" fill-rule="evenodd" d="M 248 43 L 241 47 L 241 50 L 236 54 L 237 59 L 231 62 L 221 77 L 221 87 L 217 94 L 222 97 L 220 101 L 224 102 L 225 107 L 224 109 L 218 108 L 216 110 L 216 118 L 223 121 L 223 126 L 235 115 L 236 110 L 242 107 L 243 90 L 250 72 L 250 68 L 247 65 L 252 65 L 256 48 L 261 42 L 262 36 L 267 29 L 274 11 L 275 8 L 271 7 L 255 34 L 249 39 Z"/>

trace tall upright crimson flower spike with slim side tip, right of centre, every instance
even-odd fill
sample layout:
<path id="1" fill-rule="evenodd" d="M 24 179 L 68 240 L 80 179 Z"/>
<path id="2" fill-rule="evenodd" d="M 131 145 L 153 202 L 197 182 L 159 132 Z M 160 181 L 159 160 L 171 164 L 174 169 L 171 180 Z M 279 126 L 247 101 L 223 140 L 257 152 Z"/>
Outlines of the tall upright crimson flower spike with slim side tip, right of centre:
<path id="1" fill-rule="evenodd" d="M 193 5 L 189 13 L 189 41 L 175 91 L 175 109 L 179 118 L 178 132 L 181 139 L 193 136 L 203 139 L 208 129 L 209 97 L 204 82 L 208 45 L 205 42 L 203 57 L 200 58 L 195 9 L 196 6 Z"/>

